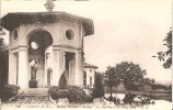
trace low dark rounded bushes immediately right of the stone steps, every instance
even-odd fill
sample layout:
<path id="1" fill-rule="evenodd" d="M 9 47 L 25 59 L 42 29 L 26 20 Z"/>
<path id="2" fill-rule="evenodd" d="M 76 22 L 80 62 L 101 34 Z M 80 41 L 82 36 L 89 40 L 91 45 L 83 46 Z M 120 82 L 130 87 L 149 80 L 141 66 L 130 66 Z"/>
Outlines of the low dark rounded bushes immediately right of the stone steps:
<path id="1" fill-rule="evenodd" d="M 57 99 L 57 98 L 61 98 L 60 96 L 66 96 L 69 98 L 70 102 L 86 102 L 86 101 L 91 101 L 92 98 L 86 96 L 85 92 L 77 86 L 66 86 L 66 89 L 69 91 L 69 94 L 67 95 L 64 92 L 57 94 L 60 88 L 57 86 L 54 86 L 51 88 L 48 89 L 48 94 L 53 99 Z"/>

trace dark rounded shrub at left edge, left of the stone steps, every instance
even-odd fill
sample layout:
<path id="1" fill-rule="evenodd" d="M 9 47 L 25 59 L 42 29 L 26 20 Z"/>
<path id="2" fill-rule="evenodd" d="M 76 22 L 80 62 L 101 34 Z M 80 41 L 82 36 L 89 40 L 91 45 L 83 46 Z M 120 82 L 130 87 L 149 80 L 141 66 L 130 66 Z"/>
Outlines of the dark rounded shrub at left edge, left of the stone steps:
<path id="1" fill-rule="evenodd" d="M 7 101 L 10 98 L 14 97 L 18 95 L 20 87 L 15 85 L 5 85 L 3 88 L 0 90 L 0 97 L 2 101 Z"/>

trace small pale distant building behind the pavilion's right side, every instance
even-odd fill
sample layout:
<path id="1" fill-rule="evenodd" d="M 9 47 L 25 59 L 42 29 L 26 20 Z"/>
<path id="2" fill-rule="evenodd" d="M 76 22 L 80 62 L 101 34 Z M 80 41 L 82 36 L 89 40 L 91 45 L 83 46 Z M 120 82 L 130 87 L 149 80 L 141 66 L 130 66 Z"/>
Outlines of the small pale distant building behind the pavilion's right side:
<path id="1" fill-rule="evenodd" d="M 83 68 L 84 87 L 91 87 L 91 88 L 94 87 L 95 69 L 97 69 L 97 66 L 84 63 L 84 68 Z"/>

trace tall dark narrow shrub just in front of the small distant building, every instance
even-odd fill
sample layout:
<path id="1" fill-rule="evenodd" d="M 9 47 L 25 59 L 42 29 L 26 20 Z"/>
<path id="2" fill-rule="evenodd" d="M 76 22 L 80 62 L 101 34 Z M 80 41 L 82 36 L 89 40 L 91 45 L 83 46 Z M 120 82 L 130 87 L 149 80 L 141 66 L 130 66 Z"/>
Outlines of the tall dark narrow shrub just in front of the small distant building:
<path id="1" fill-rule="evenodd" d="M 92 92 L 93 98 L 101 98 L 104 96 L 104 88 L 102 80 L 103 80 L 102 75 L 100 73 L 95 74 L 95 82 L 94 82 L 95 87 Z"/>

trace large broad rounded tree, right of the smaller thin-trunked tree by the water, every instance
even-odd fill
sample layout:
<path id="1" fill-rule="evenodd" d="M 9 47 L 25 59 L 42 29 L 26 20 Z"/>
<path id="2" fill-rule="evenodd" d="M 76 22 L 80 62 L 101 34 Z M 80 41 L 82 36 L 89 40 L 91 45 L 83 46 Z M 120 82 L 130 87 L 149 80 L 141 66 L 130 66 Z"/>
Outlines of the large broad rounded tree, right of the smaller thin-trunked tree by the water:
<path id="1" fill-rule="evenodd" d="M 143 86 L 145 75 L 147 70 L 141 69 L 138 64 L 122 62 L 116 65 L 116 73 L 123 79 L 127 90 L 139 90 Z"/>

